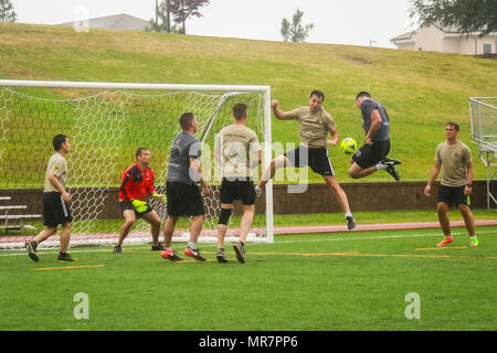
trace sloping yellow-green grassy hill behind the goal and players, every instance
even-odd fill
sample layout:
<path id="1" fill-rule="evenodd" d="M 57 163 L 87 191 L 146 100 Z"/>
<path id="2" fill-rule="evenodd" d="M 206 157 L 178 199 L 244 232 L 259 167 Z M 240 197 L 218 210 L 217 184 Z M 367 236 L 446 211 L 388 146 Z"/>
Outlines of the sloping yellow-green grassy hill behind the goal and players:
<path id="1" fill-rule="evenodd" d="M 444 124 L 462 127 L 470 143 L 468 97 L 497 95 L 497 61 L 426 52 L 219 39 L 147 32 L 0 23 L 0 78 L 136 83 L 269 85 L 284 110 L 307 105 L 310 90 L 342 138 L 363 141 L 359 90 L 389 110 L 391 156 L 404 161 L 403 181 L 426 180 Z M 298 124 L 273 118 L 274 141 L 298 141 Z M 476 179 L 485 167 L 472 150 Z M 350 182 L 349 158 L 331 150 L 340 182 Z M 320 182 L 313 176 L 311 182 Z M 363 181 L 391 181 L 376 173 Z"/>

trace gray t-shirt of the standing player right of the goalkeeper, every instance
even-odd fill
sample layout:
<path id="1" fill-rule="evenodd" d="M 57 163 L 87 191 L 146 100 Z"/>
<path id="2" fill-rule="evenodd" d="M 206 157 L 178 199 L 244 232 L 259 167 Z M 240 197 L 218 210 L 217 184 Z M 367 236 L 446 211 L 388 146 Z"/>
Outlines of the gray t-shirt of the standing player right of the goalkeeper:
<path id="1" fill-rule="evenodd" d="M 190 158 L 200 159 L 202 145 L 188 132 L 178 135 L 171 145 L 169 169 L 166 180 L 194 185 L 197 182 L 190 175 Z"/>

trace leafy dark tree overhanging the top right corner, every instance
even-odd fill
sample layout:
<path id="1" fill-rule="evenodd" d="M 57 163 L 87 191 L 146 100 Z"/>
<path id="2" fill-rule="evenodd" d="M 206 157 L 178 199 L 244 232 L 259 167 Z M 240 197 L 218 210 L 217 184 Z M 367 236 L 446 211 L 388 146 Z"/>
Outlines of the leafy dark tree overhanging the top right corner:
<path id="1" fill-rule="evenodd" d="M 467 35 L 497 32 L 496 0 L 411 0 L 411 3 L 410 15 L 417 15 L 422 25 L 440 23 Z"/>

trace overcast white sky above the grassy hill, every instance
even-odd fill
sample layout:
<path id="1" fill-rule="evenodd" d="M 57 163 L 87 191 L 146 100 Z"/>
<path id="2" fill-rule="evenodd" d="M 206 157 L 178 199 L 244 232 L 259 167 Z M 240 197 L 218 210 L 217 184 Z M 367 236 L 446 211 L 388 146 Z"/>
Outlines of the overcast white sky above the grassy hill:
<path id="1" fill-rule="evenodd" d="M 144 20 L 154 17 L 156 0 L 11 0 L 18 22 L 59 24 L 127 13 Z M 187 34 L 282 41 L 284 18 L 304 11 L 314 29 L 309 43 L 394 47 L 390 39 L 413 28 L 410 0 L 211 0 L 203 18 L 187 22 Z"/>

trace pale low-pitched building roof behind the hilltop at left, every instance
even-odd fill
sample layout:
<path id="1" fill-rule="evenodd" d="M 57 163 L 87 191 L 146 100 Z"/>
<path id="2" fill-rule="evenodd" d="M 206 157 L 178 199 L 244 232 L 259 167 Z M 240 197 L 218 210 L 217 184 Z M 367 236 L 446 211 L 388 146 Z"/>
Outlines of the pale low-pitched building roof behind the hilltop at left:
<path id="1" fill-rule="evenodd" d="M 148 21 L 141 20 L 139 18 L 119 13 L 112 14 L 102 18 L 65 22 L 60 25 L 65 26 L 83 26 L 87 23 L 88 29 L 105 29 L 105 30 L 121 30 L 121 31 L 146 31 L 150 25 Z"/>

